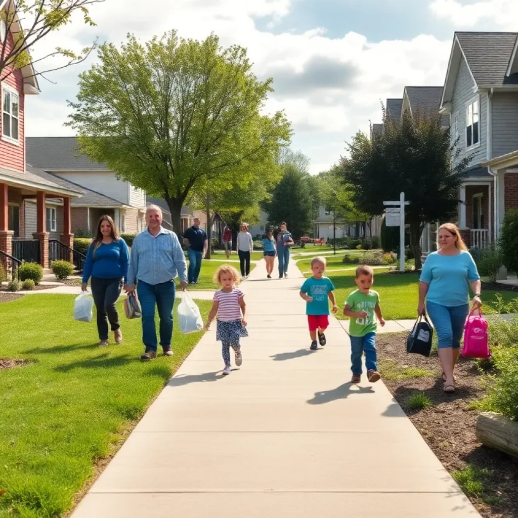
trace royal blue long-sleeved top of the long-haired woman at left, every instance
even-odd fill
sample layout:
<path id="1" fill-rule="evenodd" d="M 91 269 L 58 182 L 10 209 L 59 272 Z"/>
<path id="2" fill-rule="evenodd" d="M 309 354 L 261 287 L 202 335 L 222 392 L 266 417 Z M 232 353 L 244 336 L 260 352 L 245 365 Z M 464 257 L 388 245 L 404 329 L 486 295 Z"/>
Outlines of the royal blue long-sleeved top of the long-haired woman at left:
<path id="1" fill-rule="evenodd" d="M 88 282 L 90 276 L 100 279 L 124 278 L 127 283 L 130 251 L 124 239 L 112 241 L 109 244 L 100 243 L 94 253 L 95 244 L 88 248 L 87 258 L 83 267 L 83 282 Z"/>

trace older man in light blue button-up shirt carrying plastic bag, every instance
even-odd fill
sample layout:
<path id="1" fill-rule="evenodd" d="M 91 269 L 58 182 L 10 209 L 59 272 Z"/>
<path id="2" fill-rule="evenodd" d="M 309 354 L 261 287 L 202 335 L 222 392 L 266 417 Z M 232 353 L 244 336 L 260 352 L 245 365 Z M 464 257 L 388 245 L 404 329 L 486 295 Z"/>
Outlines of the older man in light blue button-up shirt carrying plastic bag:
<path id="1" fill-rule="evenodd" d="M 180 241 L 162 226 L 162 209 L 150 205 L 146 211 L 147 228 L 133 240 L 128 270 L 127 293 L 135 290 L 142 309 L 142 341 L 146 350 L 140 359 L 156 358 L 158 348 L 155 306 L 159 310 L 160 345 L 165 356 L 172 356 L 172 308 L 175 304 L 175 277 L 182 290 L 187 286 L 187 264 Z M 137 284 L 138 283 L 138 284 Z"/>

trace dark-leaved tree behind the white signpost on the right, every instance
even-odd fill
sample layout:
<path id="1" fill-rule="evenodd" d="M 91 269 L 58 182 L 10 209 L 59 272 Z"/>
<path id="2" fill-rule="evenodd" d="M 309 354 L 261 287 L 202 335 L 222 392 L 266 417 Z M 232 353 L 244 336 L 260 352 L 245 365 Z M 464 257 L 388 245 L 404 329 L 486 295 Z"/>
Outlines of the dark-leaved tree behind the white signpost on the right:
<path id="1" fill-rule="evenodd" d="M 451 145 L 450 130 L 441 126 L 439 115 L 419 113 L 413 118 L 405 114 L 397 124 L 384 114 L 383 133 L 372 140 L 358 133 L 349 151 L 340 169 L 359 211 L 381 214 L 384 200 L 399 199 L 405 192 L 410 202 L 406 208 L 410 247 L 415 268 L 420 269 L 423 229 L 427 223 L 455 217 L 458 188 L 470 157 L 458 160 L 459 151 Z"/>

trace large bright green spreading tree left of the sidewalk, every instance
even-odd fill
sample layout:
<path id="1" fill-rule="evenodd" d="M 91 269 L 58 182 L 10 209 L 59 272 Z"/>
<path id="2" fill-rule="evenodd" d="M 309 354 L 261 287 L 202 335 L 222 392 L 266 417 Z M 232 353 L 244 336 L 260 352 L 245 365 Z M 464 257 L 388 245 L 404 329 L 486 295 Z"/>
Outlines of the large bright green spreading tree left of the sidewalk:
<path id="1" fill-rule="evenodd" d="M 102 45 L 99 61 L 80 75 L 68 124 L 91 160 L 163 198 L 176 232 L 193 192 L 276 174 L 290 123 L 260 113 L 272 80 L 254 76 L 246 49 L 171 31 L 145 45 L 132 35 L 120 49 Z"/>

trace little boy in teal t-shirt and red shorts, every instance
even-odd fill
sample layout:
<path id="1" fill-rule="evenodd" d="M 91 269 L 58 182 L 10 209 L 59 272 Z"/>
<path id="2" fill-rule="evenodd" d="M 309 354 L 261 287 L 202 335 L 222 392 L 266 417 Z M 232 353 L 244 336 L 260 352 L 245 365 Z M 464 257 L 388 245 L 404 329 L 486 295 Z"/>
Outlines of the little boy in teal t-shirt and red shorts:
<path id="1" fill-rule="evenodd" d="M 329 300 L 333 304 L 333 313 L 338 311 L 335 294 L 335 286 L 329 278 L 324 277 L 326 266 L 325 257 L 314 257 L 311 260 L 311 271 L 313 276 L 304 281 L 300 287 L 300 296 L 306 301 L 306 314 L 308 315 L 309 336 L 311 337 L 310 349 L 318 349 L 316 334 L 318 332 L 319 343 L 325 346 L 326 338 L 324 331 L 329 326 Z"/>

